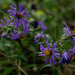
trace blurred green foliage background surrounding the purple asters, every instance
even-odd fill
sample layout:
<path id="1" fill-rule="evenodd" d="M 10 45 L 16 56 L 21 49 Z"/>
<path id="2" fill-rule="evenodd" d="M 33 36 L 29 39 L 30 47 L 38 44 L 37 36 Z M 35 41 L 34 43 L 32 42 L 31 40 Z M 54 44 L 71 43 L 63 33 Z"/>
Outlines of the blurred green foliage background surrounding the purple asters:
<path id="1" fill-rule="evenodd" d="M 54 42 L 62 38 L 65 22 L 70 29 L 75 29 L 75 0 L 0 0 L 0 19 L 8 18 L 7 10 L 14 3 L 17 7 L 22 3 L 23 8 L 28 8 L 31 15 L 30 22 L 34 19 L 42 20 L 47 26 L 45 34 L 49 34 Z M 16 41 L 0 37 L 0 52 L 12 58 L 18 65 L 20 63 L 28 75 L 74 75 L 75 68 L 71 66 L 63 65 L 64 72 L 59 67 L 56 70 L 49 64 L 45 66 L 44 57 L 38 57 L 37 53 L 40 52 L 40 44 L 34 44 L 32 41 L 35 34 L 29 33 L 29 35 L 32 37 L 22 41 L 23 50 Z M 69 46 L 66 45 L 66 48 L 69 49 Z M 0 75 L 23 74 L 9 59 L 0 55 Z"/>

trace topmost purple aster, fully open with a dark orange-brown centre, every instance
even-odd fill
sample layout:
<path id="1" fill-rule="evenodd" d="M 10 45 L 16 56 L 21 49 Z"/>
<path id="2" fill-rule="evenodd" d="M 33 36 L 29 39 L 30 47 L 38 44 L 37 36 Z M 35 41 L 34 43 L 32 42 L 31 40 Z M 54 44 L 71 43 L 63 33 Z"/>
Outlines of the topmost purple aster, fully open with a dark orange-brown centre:
<path id="1" fill-rule="evenodd" d="M 21 24 L 21 27 L 24 28 L 25 25 L 29 24 L 30 22 L 25 20 L 23 17 L 30 17 L 30 15 L 27 15 L 29 12 L 27 8 L 23 10 L 23 4 L 19 3 L 19 11 L 17 11 L 17 7 L 14 4 L 14 6 L 10 6 L 13 10 L 8 10 L 7 12 L 9 13 L 9 16 L 13 16 L 12 19 L 14 21 L 12 22 L 11 25 L 15 25 L 15 28 L 19 28 L 19 23 Z"/>

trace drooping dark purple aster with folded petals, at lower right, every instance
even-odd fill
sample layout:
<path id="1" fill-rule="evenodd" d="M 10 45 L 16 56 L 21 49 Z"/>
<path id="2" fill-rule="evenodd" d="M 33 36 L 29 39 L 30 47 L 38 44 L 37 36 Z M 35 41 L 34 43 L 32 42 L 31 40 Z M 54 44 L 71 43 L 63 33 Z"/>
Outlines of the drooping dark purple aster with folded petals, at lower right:
<path id="1" fill-rule="evenodd" d="M 63 63 L 63 64 L 65 64 L 65 63 L 71 63 L 72 61 L 71 61 L 71 54 L 69 54 L 68 52 L 63 52 L 63 54 L 62 54 L 62 59 L 61 59 L 61 61 L 60 62 L 58 62 L 59 64 L 61 64 L 61 63 Z"/>

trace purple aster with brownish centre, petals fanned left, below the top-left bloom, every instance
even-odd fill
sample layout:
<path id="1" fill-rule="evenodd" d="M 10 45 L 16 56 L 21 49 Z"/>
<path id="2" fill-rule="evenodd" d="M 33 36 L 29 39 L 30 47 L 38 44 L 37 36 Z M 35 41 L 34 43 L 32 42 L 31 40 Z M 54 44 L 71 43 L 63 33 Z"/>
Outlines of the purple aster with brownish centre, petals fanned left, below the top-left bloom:
<path id="1" fill-rule="evenodd" d="M 10 38 L 12 40 L 17 40 L 17 39 L 21 39 L 21 40 L 24 40 L 26 39 L 26 34 L 29 33 L 29 25 L 28 26 L 25 26 L 24 30 L 23 30 L 23 33 L 19 33 L 19 31 L 17 30 L 13 30 L 12 32 L 10 32 Z"/>

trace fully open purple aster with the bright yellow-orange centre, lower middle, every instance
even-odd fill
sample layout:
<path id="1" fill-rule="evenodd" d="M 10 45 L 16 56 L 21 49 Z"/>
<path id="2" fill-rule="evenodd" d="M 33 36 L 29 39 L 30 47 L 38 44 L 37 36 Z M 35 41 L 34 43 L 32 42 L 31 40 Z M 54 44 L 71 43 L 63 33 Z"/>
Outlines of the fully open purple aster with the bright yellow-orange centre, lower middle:
<path id="1" fill-rule="evenodd" d="M 60 58 L 60 53 L 58 53 L 58 50 L 55 49 L 57 44 L 54 43 L 53 47 L 50 48 L 50 46 L 48 44 L 48 39 L 47 39 L 46 45 L 47 45 L 47 48 L 44 48 L 42 46 L 42 44 L 40 45 L 40 50 L 43 52 L 43 54 L 39 54 L 39 56 L 45 56 L 46 57 L 46 64 L 48 63 L 48 61 L 50 61 L 50 65 L 56 64 L 54 57 Z M 57 53 L 55 53 L 55 52 L 57 52 Z"/>

